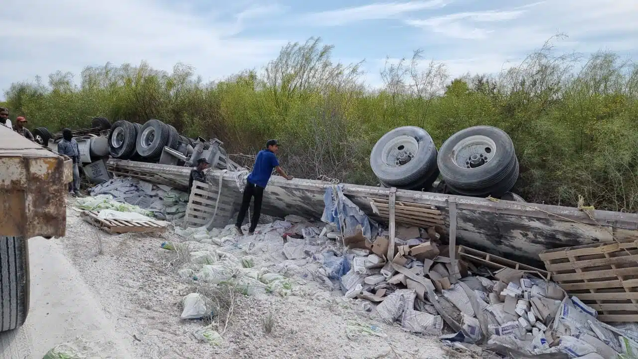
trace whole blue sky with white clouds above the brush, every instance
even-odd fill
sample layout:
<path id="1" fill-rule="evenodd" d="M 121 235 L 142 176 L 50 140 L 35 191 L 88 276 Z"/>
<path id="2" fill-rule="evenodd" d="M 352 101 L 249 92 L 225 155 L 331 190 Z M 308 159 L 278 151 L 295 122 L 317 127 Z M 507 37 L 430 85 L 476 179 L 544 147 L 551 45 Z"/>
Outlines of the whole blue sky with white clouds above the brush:
<path id="1" fill-rule="evenodd" d="M 568 36 L 558 51 L 638 54 L 637 0 L 3 0 L 0 8 L 0 99 L 12 82 L 107 62 L 168 71 L 181 62 L 220 80 L 310 36 L 334 45 L 335 60 L 365 60 L 373 87 L 387 57 L 415 49 L 452 76 L 500 72 L 558 33 Z"/>

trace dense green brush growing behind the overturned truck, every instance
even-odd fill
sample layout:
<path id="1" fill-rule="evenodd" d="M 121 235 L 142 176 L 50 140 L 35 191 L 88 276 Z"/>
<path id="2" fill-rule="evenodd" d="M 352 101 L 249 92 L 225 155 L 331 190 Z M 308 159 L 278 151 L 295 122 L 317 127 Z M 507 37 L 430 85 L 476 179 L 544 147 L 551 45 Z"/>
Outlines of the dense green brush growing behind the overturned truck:
<path id="1" fill-rule="evenodd" d="M 94 116 L 158 118 L 247 155 L 277 138 L 290 174 L 367 185 L 376 185 L 369 153 L 392 128 L 420 126 L 440 146 L 463 128 L 492 125 L 514 141 L 515 190 L 528 201 L 574 206 L 582 195 L 597 209 L 638 211 L 637 67 L 613 52 L 557 54 L 554 40 L 496 75 L 456 79 L 416 51 L 387 61 L 383 88 L 371 89 L 361 63 L 335 63 L 333 47 L 310 38 L 286 45 L 260 71 L 220 82 L 205 83 L 182 64 L 171 73 L 107 64 L 79 79 L 56 72 L 47 84 L 14 83 L 6 105 L 52 132 L 86 127 Z"/>

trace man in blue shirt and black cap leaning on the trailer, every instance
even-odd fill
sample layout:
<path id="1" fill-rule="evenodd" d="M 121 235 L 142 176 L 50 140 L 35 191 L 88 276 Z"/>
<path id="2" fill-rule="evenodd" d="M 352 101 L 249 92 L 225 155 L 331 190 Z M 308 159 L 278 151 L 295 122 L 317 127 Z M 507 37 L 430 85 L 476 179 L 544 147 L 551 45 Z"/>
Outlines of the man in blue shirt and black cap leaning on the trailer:
<path id="1" fill-rule="evenodd" d="M 250 200 L 255 197 L 255 204 L 253 206 L 253 220 L 250 222 L 250 228 L 248 234 L 254 234 L 257 222 L 259 222 L 259 216 L 262 211 L 262 198 L 263 189 L 266 188 L 268 180 L 271 178 L 272 169 L 276 169 L 285 179 L 292 179 L 292 176 L 288 176 L 286 172 L 279 167 L 279 161 L 277 160 L 276 153 L 279 151 L 279 144 L 277 140 L 268 140 L 266 142 L 266 149 L 262 149 L 257 154 L 255 159 L 255 165 L 253 166 L 253 172 L 248 175 L 246 179 L 246 188 L 244 188 L 244 196 L 241 201 L 241 209 L 239 215 L 237 215 L 237 223 L 235 223 L 235 229 L 237 233 L 242 236 L 244 233 L 241 230 L 241 225 L 246 217 L 248 206 L 250 206 Z"/>

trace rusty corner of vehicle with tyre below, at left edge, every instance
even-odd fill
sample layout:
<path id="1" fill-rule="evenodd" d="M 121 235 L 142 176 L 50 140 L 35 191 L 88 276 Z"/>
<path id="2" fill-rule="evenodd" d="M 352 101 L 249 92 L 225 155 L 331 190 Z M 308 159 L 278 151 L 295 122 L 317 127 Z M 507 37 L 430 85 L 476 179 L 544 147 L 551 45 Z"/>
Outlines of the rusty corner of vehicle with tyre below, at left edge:
<path id="1" fill-rule="evenodd" d="M 29 312 L 29 238 L 66 234 L 71 159 L 0 126 L 0 332 Z"/>

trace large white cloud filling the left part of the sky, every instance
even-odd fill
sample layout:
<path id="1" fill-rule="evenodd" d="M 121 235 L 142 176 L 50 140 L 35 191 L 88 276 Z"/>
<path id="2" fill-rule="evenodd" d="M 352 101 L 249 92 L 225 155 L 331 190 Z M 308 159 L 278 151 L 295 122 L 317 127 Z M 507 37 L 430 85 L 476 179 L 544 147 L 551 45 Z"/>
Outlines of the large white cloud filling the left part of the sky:
<path id="1" fill-rule="evenodd" d="M 0 89 L 56 70 L 78 75 L 87 65 L 142 60 L 161 70 L 184 62 L 214 80 L 266 63 L 287 42 L 240 34 L 242 22 L 278 11 L 276 6 L 244 8 L 234 17 L 152 0 L 4 0 L 2 9 Z"/>

